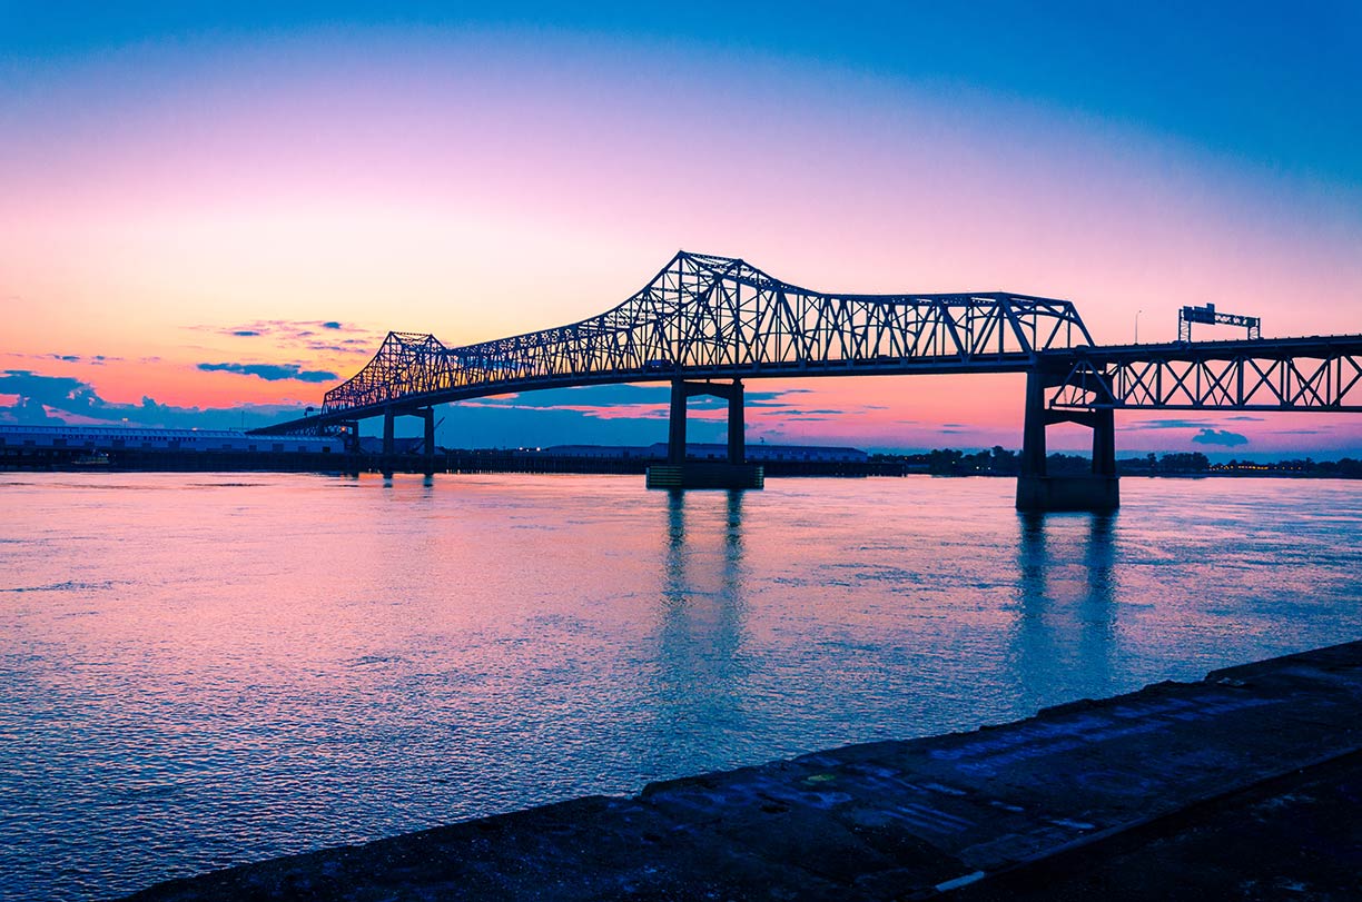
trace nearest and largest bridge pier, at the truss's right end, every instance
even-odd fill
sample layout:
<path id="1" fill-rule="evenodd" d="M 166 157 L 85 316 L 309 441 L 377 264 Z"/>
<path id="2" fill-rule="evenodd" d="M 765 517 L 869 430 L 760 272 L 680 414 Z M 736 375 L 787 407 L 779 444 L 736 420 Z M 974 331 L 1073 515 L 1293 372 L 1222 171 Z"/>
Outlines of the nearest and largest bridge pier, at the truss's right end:
<path id="1" fill-rule="evenodd" d="M 1115 472 L 1115 414 L 1111 408 L 1056 411 L 1045 404 L 1045 389 L 1062 375 L 1032 369 L 1026 377 L 1026 422 L 1022 427 L 1022 473 L 1017 476 L 1017 510 L 1115 510 L 1121 506 L 1121 480 Z M 1050 423 L 1081 423 L 1092 430 L 1092 472 L 1083 476 L 1051 476 L 1047 472 L 1045 427 Z"/>

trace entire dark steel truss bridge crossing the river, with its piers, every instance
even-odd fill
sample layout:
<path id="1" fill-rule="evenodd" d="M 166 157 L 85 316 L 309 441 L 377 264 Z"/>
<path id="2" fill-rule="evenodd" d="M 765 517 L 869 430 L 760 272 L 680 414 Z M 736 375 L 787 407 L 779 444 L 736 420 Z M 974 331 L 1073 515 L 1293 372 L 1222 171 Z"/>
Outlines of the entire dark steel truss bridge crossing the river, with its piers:
<path id="1" fill-rule="evenodd" d="M 357 431 L 425 420 L 489 395 L 618 382 L 671 384 L 669 458 L 684 469 L 686 400 L 729 401 L 729 463 L 744 457 L 744 380 L 1026 373 L 1017 507 L 1117 506 L 1118 410 L 1362 412 L 1362 335 L 1096 346 L 1069 301 L 1007 291 L 843 294 L 780 282 L 744 260 L 677 253 L 618 306 L 571 325 L 445 347 L 390 332 L 373 359 L 304 418 L 260 434 Z M 1092 473 L 1050 476 L 1053 423 L 1092 429 Z"/>

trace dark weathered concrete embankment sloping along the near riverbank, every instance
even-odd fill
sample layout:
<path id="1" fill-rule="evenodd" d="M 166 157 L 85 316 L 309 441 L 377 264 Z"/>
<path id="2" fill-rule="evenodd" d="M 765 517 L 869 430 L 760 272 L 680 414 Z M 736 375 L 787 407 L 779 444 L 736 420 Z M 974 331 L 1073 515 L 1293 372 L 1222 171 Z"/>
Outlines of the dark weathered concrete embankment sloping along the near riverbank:
<path id="1" fill-rule="evenodd" d="M 1362 642 L 132 898 L 1344 899 L 1358 803 Z"/>

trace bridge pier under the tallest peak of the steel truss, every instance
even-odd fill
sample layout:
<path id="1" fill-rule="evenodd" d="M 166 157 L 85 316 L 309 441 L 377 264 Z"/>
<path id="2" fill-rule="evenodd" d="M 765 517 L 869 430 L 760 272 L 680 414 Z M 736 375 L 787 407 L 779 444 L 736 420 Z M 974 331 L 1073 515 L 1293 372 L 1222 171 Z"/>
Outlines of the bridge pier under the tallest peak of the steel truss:
<path id="1" fill-rule="evenodd" d="M 746 463 L 746 427 L 742 418 L 742 380 L 686 382 L 671 380 L 671 414 L 667 422 L 667 463 L 648 467 L 648 488 L 760 488 L 764 472 Z M 729 401 L 727 460 L 685 458 L 686 401 L 696 396 Z"/>

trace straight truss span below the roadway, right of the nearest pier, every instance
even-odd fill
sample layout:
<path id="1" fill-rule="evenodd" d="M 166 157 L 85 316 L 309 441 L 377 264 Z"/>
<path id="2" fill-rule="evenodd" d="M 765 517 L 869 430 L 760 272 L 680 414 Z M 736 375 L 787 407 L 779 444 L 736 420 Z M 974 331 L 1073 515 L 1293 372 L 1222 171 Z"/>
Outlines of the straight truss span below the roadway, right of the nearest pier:
<path id="1" fill-rule="evenodd" d="M 1362 335 L 1080 350 L 1057 410 L 1362 412 Z"/>

